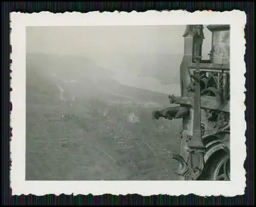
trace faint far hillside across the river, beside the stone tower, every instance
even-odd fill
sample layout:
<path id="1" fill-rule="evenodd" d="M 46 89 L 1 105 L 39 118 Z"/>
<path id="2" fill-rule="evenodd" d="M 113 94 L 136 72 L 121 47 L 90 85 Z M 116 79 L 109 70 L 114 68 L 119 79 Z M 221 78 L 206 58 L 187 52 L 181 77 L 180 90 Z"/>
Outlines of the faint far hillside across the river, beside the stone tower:
<path id="1" fill-rule="evenodd" d="M 98 64 L 111 71 L 123 71 L 138 74 L 139 77 L 151 77 L 162 84 L 179 84 L 179 68 L 183 54 L 108 54 L 99 55 Z"/>

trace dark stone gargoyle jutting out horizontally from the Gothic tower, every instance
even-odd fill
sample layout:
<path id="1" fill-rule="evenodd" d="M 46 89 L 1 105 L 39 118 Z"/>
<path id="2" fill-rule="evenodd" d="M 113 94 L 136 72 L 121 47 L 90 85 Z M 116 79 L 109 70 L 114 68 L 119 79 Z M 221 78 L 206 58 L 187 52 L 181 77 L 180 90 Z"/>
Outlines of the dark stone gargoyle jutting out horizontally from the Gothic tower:
<path id="1" fill-rule="evenodd" d="M 181 119 L 189 114 L 189 109 L 185 106 L 177 106 L 177 107 L 168 107 L 163 110 L 155 110 L 152 112 L 152 119 L 158 120 L 160 117 L 164 119 L 173 120 L 173 119 Z"/>

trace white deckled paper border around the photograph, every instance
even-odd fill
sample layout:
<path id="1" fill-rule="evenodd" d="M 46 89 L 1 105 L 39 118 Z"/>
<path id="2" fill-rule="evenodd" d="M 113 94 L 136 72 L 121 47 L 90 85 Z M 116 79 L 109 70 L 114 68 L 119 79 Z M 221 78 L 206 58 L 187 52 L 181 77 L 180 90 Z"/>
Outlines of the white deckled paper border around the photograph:
<path id="1" fill-rule="evenodd" d="M 231 181 L 26 181 L 26 27 L 27 26 L 107 26 L 107 25 L 215 25 L 229 24 L 231 71 Z M 244 118 L 245 77 L 244 27 L 246 14 L 233 10 L 225 12 L 147 11 L 147 12 L 90 12 L 90 13 L 11 13 L 11 45 L 13 61 L 11 102 L 11 188 L 20 194 L 167 194 L 200 196 L 243 195 L 246 186 Z"/>

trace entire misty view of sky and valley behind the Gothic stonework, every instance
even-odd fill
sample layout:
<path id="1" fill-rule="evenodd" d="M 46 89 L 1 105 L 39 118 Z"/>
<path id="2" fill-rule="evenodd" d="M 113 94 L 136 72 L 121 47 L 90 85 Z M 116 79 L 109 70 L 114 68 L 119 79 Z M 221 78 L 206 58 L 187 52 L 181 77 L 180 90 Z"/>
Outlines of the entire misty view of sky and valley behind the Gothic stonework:
<path id="1" fill-rule="evenodd" d="M 152 111 L 180 95 L 184 31 L 28 27 L 26 180 L 178 179 L 182 120 Z"/>

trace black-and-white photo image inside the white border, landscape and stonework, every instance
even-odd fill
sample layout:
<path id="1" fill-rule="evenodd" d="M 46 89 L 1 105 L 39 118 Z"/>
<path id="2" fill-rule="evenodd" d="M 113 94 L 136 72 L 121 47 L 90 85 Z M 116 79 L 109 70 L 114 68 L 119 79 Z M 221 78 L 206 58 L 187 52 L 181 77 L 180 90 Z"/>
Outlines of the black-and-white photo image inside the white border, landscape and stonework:
<path id="1" fill-rule="evenodd" d="M 26 180 L 230 180 L 230 26 L 26 27 Z"/>

